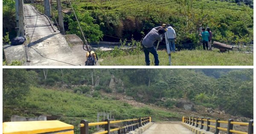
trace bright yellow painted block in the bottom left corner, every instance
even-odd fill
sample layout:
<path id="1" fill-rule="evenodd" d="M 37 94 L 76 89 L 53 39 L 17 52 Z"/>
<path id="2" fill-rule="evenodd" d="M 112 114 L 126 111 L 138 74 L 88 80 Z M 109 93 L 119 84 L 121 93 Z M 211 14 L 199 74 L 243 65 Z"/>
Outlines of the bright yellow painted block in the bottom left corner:
<path id="1" fill-rule="evenodd" d="M 74 134 L 73 129 L 73 125 L 58 120 L 3 123 L 3 134 Z"/>

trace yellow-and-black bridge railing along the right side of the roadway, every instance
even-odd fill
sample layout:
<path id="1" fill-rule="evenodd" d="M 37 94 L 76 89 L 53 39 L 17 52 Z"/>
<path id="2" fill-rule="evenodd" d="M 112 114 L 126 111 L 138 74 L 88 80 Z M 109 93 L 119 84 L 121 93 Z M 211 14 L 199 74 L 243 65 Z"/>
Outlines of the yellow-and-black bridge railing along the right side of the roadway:
<path id="1" fill-rule="evenodd" d="M 195 117 L 182 117 L 182 122 L 187 123 L 189 125 L 195 126 L 196 128 L 198 125 L 201 125 L 200 129 L 203 129 L 204 126 L 207 127 L 206 131 L 209 131 L 210 128 L 215 128 L 215 134 L 218 134 L 219 131 L 226 131 L 227 134 L 253 134 L 253 120 L 250 120 L 249 123 L 240 123 L 240 122 L 234 122 L 233 119 L 229 119 L 228 121 L 221 121 L 219 119 L 211 120 L 210 118 L 204 119 L 204 118 L 195 118 Z M 200 121 L 200 122 L 199 122 Z M 215 123 L 215 125 L 211 125 L 212 123 Z M 227 128 L 222 128 L 220 125 L 227 124 Z M 233 125 L 244 125 L 248 126 L 248 132 L 242 132 L 242 131 L 236 131 L 233 130 Z"/>

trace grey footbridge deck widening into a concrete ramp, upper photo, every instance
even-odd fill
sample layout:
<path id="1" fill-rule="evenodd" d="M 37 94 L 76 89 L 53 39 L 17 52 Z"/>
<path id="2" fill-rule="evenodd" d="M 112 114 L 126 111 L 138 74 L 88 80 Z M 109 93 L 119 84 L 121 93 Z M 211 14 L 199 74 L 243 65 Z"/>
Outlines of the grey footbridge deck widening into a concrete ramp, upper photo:
<path id="1" fill-rule="evenodd" d="M 84 66 L 86 51 L 82 44 L 70 47 L 60 31 L 54 31 L 47 17 L 39 14 L 35 7 L 24 5 L 26 33 L 28 34 L 29 66 Z M 56 29 L 54 27 L 54 29 Z M 24 45 L 3 46 L 6 60 L 23 60 L 26 63 Z"/>

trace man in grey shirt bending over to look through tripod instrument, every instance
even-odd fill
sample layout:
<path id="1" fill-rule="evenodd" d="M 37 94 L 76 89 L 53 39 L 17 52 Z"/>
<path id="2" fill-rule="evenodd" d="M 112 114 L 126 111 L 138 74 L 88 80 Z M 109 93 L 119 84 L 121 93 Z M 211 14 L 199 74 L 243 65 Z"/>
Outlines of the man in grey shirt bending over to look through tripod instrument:
<path id="1" fill-rule="evenodd" d="M 142 40 L 143 51 L 145 54 L 146 65 L 150 65 L 149 53 L 154 55 L 155 66 L 159 65 L 157 50 L 154 48 L 155 41 L 162 41 L 165 33 L 165 29 L 161 26 L 153 28 Z"/>

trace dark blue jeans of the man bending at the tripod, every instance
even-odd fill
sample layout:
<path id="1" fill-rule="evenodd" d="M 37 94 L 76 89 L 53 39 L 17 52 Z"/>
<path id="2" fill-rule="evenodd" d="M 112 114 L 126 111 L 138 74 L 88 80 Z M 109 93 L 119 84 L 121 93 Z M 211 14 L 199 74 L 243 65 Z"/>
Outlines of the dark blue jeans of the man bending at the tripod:
<path id="1" fill-rule="evenodd" d="M 145 46 L 143 46 L 143 51 L 144 51 L 144 54 L 145 54 L 146 65 L 148 65 L 148 66 L 150 65 L 149 53 L 151 53 L 151 54 L 154 55 L 155 66 L 159 66 L 158 54 L 157 54 L 157 50 L 156 50 L 156 48 L 154 48 L 154 46 L 152 46 L 150 48 L 146 48 Z"/>

